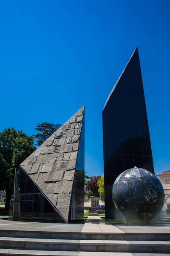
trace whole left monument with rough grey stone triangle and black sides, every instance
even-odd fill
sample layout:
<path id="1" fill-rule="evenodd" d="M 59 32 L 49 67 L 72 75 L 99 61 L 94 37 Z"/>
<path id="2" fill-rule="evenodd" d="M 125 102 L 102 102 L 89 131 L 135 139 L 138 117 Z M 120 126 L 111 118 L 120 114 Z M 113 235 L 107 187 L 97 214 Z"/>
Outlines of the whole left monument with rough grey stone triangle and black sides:
<path id="1" fill-rule="evenodd" d="M 21 163 L 21 221 L 83 221 L 84 109 L 80 108 Z"/>

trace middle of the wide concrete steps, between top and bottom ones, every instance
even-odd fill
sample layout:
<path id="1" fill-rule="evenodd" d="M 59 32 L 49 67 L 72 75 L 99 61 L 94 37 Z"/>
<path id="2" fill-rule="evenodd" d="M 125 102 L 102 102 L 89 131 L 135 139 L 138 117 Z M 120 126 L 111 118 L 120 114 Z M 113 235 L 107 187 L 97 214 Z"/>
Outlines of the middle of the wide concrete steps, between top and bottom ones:
<path id="1" fill-rule="evenodd" d="M 19 250 L 169 253 L 170 241 L 31 239 L 0 237 L 0 248 Z"/>

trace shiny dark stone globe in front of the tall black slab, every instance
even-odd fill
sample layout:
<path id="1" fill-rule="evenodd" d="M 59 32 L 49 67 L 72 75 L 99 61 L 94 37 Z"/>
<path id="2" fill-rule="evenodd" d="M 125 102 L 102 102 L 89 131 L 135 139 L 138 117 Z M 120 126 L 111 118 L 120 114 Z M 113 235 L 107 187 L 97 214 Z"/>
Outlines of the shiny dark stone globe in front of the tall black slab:
<path id="1" fill-rule="evenodd" d="M 116 178 L 112 198 L 125 218 L 151 220 L 164 205 L 164 189 L 153 173 L 135 166 Z"/>

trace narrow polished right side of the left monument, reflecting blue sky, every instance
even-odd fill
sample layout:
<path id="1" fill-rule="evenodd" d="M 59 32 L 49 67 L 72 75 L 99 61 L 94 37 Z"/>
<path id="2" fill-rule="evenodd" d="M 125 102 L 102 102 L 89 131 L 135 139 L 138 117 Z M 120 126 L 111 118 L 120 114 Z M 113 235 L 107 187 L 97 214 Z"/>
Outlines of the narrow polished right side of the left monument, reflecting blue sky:
<path id="1" fill-rule="evenodd" d="M 69 222 L 84 221 L 84 175 L 85 175 L 85 113 L 82 121 L 82 131 L 77 154 L 76 170 L 74 174 L 71 195 Z"/>

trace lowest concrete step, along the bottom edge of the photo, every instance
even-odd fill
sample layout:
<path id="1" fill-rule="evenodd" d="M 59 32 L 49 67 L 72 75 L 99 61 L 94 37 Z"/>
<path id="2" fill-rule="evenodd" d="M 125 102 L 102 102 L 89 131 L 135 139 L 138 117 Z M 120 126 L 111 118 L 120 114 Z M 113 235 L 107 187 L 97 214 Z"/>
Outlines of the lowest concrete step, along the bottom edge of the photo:
<path id="1" fill-rule="evenodd" d="M 107 253 L 0 249 L 0 256 L 170 256 L 169 253 Z"/>

